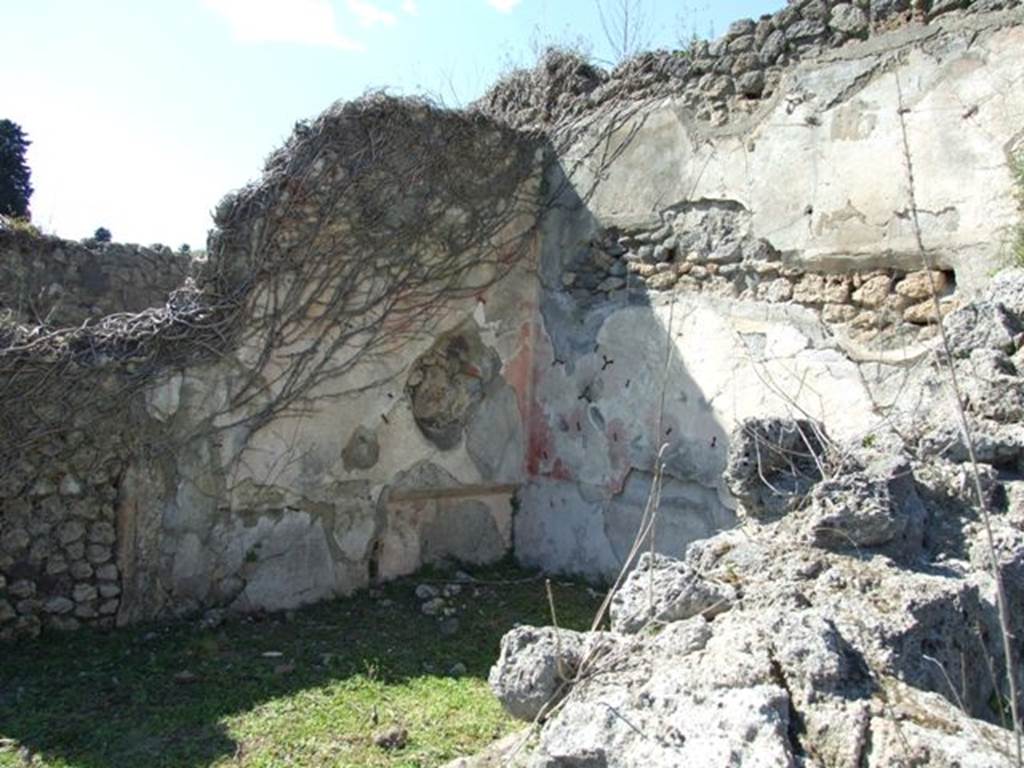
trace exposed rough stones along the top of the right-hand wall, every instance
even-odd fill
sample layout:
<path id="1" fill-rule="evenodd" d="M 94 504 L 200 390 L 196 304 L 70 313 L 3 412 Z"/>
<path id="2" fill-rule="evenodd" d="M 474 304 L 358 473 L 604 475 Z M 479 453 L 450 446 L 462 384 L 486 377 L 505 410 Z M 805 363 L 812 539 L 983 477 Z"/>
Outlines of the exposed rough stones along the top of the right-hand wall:
<path id="1" fill-rule="evenodd" d="M 475 108 L 518 128 L 542 128 L 602 105 L 676 96 L 698 120 L 724 125 L 771 96 L 795 61 L 911 18 L 931 23 L 950 11 L 1019 5 L 1019 0 L 790 0 L 773 14 L 733 23 L 713 42 L 640 53 L 610 73 L 578 54 L 550 50 L 535 70 L 508 76 Z"/>

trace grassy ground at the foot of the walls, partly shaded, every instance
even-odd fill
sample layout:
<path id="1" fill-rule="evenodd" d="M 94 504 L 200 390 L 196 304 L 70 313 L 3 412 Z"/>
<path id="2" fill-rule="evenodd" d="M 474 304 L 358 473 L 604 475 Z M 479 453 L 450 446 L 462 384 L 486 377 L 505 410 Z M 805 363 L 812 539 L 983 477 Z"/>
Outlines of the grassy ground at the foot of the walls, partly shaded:
<path id="1" fill-rule="evenodd" d="M 528 574 L 502 565 L 473 575 Z M 452 601 L 460 628 L 445 637 L 414 595 L 427 578 L 209 631 L 189 623 L 0 646 L 0 766 L 412 767 L 474 753 L 517 727 L 486 674 L 513 625 L 549 623 L 544 582 L 464 588 Z M 559 623 L 589 627 L 595 593 L 554 590 Z M 449 674 L 457 663 L 465 675 Z M 375 733 L 392 726 L 408 744 L 377 746 Z"/>

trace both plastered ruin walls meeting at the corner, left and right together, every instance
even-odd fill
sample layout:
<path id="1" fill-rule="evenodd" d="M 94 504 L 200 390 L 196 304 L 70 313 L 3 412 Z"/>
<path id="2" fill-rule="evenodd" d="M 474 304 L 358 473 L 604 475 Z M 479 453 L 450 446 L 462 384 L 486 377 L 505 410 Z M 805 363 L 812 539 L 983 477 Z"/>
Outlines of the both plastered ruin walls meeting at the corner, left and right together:
<path id="1" fill-rule="evenodd" d="M 290 608 L 513 545 L 604 578 L 659 456 L 679 554 L 736 521 L 742 420 L 901 440 L 935 387 L 925 299 L 984 287 L 1019 222 L 1022 20 L 799 49 L 721 125 L 656 78 L 556 98 L 543 132 L 537 91 L 492 109 L 508 84 L 300 124 L 157 308 L 0 326 L 0 634 Z"/>

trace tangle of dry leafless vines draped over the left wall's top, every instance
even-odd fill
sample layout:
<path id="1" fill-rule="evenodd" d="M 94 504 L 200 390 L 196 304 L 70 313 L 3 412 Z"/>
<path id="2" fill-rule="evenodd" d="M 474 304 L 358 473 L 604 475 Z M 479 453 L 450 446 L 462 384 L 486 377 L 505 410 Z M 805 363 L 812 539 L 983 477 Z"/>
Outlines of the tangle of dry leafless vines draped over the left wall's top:
<path id="1" fill-rule="evenodd" d="M 108 420 L 162 371 L 241 346 L 225 410 L 256 428 L 299 408 L 529 252 L 538 146 L 478 113 L 380 94 L 297 125 L 263 177 L 218 206 L 208 259 L 165 306 L 0 328 L 0 466 Z"/>

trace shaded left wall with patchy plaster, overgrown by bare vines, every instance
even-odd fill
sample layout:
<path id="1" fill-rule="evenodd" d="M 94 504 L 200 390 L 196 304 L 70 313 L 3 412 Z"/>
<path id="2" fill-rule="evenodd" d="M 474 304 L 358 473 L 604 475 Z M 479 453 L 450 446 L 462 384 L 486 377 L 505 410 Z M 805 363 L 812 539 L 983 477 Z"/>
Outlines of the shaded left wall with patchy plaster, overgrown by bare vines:
<path id="1" fill-rule="evenodd" d="M 0 633 L 278 610 L 503 557 L 538 151 L 479 116 L 338 104 L 222 202 L 161 308 L 0 329 Z"/>

